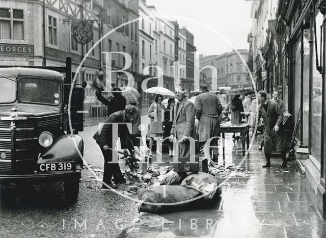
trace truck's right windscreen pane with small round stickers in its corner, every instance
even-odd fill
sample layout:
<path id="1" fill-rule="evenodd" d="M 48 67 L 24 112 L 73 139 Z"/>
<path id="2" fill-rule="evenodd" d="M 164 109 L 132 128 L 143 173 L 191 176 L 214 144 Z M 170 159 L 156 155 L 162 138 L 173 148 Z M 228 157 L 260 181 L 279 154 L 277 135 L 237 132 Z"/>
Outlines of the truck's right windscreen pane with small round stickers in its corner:
<path id="1" fill-rule="evenodd" d="M 60 84 L 45 78 L 19 78 L 19 100 L 21 102 L 60 104 Z"/>

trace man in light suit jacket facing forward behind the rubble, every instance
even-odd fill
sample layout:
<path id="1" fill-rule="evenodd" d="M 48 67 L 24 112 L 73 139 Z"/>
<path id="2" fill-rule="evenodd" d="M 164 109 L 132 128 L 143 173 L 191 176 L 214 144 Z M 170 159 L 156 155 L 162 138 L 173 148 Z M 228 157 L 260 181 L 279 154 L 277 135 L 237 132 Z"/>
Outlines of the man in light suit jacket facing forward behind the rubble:
<path id="1" fill-rule="evenodd" d="M 195 106 L 186 99 L 186 90 L 176 89 L 178 103 L 174 107 L 174 121 L 170 133 L 170 141 L 174 137 L 179 142 L 179 157 L 190 157 L 189 138 L 196 138 L 195 132 Z"/>

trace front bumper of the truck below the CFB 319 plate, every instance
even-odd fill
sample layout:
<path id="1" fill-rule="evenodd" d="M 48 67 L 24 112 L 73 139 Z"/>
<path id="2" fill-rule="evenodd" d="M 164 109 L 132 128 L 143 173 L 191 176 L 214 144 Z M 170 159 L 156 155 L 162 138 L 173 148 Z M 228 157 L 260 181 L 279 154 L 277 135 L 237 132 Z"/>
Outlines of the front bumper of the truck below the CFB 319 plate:
<path id="1" fill-rule="evenodd" d="M 82 176 L 80 171 L 75 172 L 59 172 L 59 173 L 42 173 L 42 174 L 1 174 L 1 183 L 16 183 L 16 182 L 26 182 L 26 183 L 36 183 L 36 182 L 54 182 L 64 179 L 79 179 Z"/>

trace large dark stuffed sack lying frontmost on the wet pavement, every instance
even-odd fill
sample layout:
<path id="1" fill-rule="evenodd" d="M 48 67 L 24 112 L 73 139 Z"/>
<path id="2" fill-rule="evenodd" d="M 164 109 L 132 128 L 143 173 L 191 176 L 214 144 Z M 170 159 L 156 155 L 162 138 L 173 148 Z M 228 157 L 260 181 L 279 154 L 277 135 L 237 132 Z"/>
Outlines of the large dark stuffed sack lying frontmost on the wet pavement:
<path id="1" fill-rule="evenodd" d="M 189 199 L 196 198 L 202 193 L 195 190 L 189 189 L 184 186 L 170 186 L 170 185 L 160 185 L 154 189 L 139 189 L 137 191 L 137 197 L 143 202 L 139 206 L 139 211 L 144 211 L 147 213 L 170 213 L 176 210 L 186 210 L 201 200 L 197 199 L 192 202 L 184 203 Z M 180 204 L 171 204 L 171 205 L 157 205 L 157 204 L 147 204 L 146 202 L 151 203 L 176 203 L 181 202 Z"/>

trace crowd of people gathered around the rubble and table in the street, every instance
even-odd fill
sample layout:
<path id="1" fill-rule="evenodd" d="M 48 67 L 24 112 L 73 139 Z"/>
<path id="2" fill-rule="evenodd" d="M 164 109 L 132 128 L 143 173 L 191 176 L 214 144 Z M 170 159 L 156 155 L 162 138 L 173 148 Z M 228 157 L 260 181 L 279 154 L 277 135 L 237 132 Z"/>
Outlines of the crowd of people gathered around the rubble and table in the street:
<path id="1" fill-rule="evenodd" d="M 117 183 L 125 182 L 118 163 L 113 162 L 115 143 L 120 138 L 123 153 L 133 154 L 134 149 L 140 149 L 142 136 L 140 131 L 141 114 L 137 103 L 126 105 L 126 99 L 119 88 L 114 88 L 111 97 L 105 98 L 100 90 L 96 96 L 107 106 L 107 119 L 103 127 L 96 131 L 94 139 L 100 146 L 104 156 L 103 188 L 117 188 Z M 148 158 L 151 161 L 154 139 L 162 139 L 169 148 L 169 156 L 190 157 L 192 143 L 198 140 L 202 151 L 211 161 L 218 163 L 218 139 L 220 138 L 220 123 L 222 122 L 222 104 L 219 98 L 202 87 L 195 103 L 187 100 L 187 91 L 179 87 L 175 90 L 175 97 L 168 99 L 167 108 L 162 101 L 164 96 L 157 94 L 155 101 L 148 109 L 147 136 L 149 137 Z M 280 151 L 282 167 L 286 167 L 285 140 L 283 135 L 284 103 L 274 91 L 273 99 L 268 99 L 266 92 L 259 91 L 255 95 L 238 94 L 229 102 L 231 123 L 250 123 L 250 135 L 253 134 L 256 122 L 258 130 L 263 132 L 263 140 L 259 149 L 264 150 L 266 163 L 263 167 L 270 167 L 271 151 Z M 257 104 L 258 114 L 257 114 Z M 195 127 L 195 118 L 198 125 Z M 262 118 L 262 122 L 261 122 Z M 131 123 L 131 129 L 126 124 Z M 264 126 L 264 130 L 261 128 Z M 114 128 L 114 124 L 118 124 Z M 235 134 L 233 139 L 237 140 Z M 112 177 L 114 182 L 111 181 Z"/>

